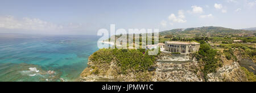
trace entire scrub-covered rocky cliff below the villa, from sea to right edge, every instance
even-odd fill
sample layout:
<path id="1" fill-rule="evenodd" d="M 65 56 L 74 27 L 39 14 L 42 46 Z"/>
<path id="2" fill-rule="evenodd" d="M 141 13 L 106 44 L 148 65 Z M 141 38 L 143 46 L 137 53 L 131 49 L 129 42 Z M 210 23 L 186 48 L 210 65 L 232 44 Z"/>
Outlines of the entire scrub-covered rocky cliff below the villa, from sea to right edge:
<path id="1" fill-rule="evenodd" d="M 88 58 L 80 81 L 246 82 L 256 81 L 255 48 L 201 44 L 189 55 L 161 52 L 148 56 L 141 49 L 100 49 Z"/>

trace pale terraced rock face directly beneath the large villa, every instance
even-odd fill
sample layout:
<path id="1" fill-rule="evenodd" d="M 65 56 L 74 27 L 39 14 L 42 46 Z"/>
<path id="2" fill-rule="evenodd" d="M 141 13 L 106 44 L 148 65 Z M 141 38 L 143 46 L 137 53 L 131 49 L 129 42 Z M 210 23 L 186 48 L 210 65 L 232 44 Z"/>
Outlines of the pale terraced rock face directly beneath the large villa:
<path id="1" fill-rule="evenodd" d="M 189 56 L 161 53 L 158 56 L 152 81 L 202 82 L 199 63 Z"/>

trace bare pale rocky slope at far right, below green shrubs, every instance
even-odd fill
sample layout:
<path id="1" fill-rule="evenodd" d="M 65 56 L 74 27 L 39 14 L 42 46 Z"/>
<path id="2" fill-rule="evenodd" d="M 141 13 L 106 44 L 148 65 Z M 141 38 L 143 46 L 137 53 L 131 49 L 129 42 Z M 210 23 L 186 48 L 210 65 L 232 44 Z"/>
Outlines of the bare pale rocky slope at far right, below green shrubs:
<path id="1" fill-rule="evenodd" d="M 241 54 L 241 51 L 238 49 L 233 49 L 233 52 L 237 60 L 227 60 L 225 56 L 222 56 L 221 60 L 224 65 L 219 68 L 216 73 L 208 74 L 208 81 L 246 82 L 248 79 L 241 67 L 246 67 L 246 69 L 255 74 L 255 62 L 248 57 L 243 57 L 243 54 Z"/>

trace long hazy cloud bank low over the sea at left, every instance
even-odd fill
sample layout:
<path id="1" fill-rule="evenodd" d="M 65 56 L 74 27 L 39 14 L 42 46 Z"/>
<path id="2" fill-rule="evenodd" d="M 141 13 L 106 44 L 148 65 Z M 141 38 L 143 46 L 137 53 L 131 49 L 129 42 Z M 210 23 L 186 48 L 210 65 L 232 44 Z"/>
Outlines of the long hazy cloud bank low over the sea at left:
<path id="1" fill-rule="evenodd" d="M 82 31 L 84 26 L 79 23 L 54 24 L 38 18 L 15 18 L 14 16 L 0 16 L 0 29 L 13 31 L 37 31 L 37 32 L 69 32 Z"/>

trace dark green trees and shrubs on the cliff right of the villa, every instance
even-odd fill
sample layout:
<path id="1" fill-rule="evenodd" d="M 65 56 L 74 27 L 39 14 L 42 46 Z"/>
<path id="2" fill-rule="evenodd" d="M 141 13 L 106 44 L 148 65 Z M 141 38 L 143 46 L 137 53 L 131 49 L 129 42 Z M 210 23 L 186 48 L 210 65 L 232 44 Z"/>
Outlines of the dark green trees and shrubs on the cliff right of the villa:
<path id="1" fill-rule="evenodd" d="M 213 49 L 209 44 L 200 41 L 199 52 L 195 53 L 194 56 L 202 63 L 201 71 L 204 73 L 204 79 L 207 81 L 207 74 L 215 73 L 218 67 L 222 67 L 224 60 L 220 59 L 221 55 L 224 55 L 226 60 L 232 62 L 237 62 L 237 55 L 234 53 L 236 50 L 241 53 L 242 59 L 251 59 L 255 61 L 256 50 L 253 46 L 245 44 L 221 44 L 219 48 L 223 49 L 223 52 Z M 235 49 L 236 48 L 236 49 Z M 240 58 L 240 60 L 241 60 Z M 242 67 L 242 70 L 245 71 L 247 79 L 249 81 L 254 81 L 254 74 L 247 70 L 245 67 Z"/>

